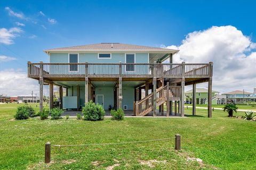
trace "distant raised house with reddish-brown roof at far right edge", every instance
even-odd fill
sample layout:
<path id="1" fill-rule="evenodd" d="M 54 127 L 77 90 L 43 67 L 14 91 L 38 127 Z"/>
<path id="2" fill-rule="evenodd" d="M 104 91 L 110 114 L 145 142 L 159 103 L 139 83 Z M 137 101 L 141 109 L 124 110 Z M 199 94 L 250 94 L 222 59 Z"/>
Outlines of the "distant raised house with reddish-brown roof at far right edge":
<path id="1" fill-rule="evenodd" d="M 223 93 L 222 95 L 226 95 L 227 103 L 239 104 L 247 102 L 256 102 L 256 95 L 251 92 L 236 90 L 228 93 Z"/>

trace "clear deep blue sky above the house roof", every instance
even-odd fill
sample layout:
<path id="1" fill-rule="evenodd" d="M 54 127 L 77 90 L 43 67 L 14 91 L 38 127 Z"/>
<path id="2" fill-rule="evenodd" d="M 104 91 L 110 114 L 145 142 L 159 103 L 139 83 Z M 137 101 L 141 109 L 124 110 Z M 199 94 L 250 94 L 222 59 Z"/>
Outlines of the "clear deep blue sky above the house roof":
<path id="1" fill-rule="evenodd" d="M 42 50 L 54 47 L 180 46 L 189 33 L 212 26 L 234 26 L 256 42 L 255 6 L 256 1 L 1 1 L 0 29 L 13 37 L 0 43 L 0 55 L 10 57 L 0 71 L 47 62 Z"/>

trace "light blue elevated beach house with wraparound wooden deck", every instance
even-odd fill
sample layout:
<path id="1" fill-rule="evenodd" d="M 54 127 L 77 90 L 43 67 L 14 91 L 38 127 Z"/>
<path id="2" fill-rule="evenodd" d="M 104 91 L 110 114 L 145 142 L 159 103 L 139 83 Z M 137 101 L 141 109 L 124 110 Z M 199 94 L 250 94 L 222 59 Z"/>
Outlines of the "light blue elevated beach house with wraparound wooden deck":
<path id="1" fill-rule="evenodd" d="M 196 84 L 209 82 L 208 98 L 212 99 L 213 63 L 172 63 L 173 54 L 178 50 L 100 43 L 44 52 L 50 56 L 49 63 L 28 62 L 28 77 L 39 80 L 40 110 L 43 109 L 43 85 L 50 88 L 50 108 L 53 107 L 53 85 L 57 85 L 63 109 L 79 110 L 92 100 L 106 110 L 109 106 L 133 110 L 134 116 L 149 113 L 184 116 L 185 85 L 193 84 L 195 98 Z M 63 96 L 64 88 L 66 96 Z M 172 103 L 176 103 L 174 108 Z M 209 117 L 210 108 L 211 102 Z"/>

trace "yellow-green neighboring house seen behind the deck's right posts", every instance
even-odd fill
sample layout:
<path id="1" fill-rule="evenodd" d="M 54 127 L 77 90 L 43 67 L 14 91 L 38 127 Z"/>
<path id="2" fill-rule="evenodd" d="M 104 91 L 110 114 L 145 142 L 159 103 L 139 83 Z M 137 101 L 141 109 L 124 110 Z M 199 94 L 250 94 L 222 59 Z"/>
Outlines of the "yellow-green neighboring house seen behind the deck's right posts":
<path id="1" fill-rule="evenodd" d="M 212 97 L 219 94 L 217 91 L 212 91 Z M 193 101 L 193 90 L 185 92 L 186 101 L 192 103 Z M 196 104 L 205 104 L 208 98 L 208 89 L 207 88 L 196 88 Z M 212 102 L 215 104 L 215 101 Z"/>

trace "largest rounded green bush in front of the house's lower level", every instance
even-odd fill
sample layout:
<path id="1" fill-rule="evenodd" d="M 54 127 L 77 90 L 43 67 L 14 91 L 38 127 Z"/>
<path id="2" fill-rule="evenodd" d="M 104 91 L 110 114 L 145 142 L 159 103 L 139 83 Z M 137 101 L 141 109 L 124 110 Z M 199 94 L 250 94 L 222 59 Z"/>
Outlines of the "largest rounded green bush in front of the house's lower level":
<path id="1" fill-rule="evenodd" d="M 82 112 L 84 114 L 85 120 L 103 120 L 105 116 L 105 110 L 103 109 L 103 107 L 98 103 L 93 103 L 92 101 L 85 104 Z"/>

